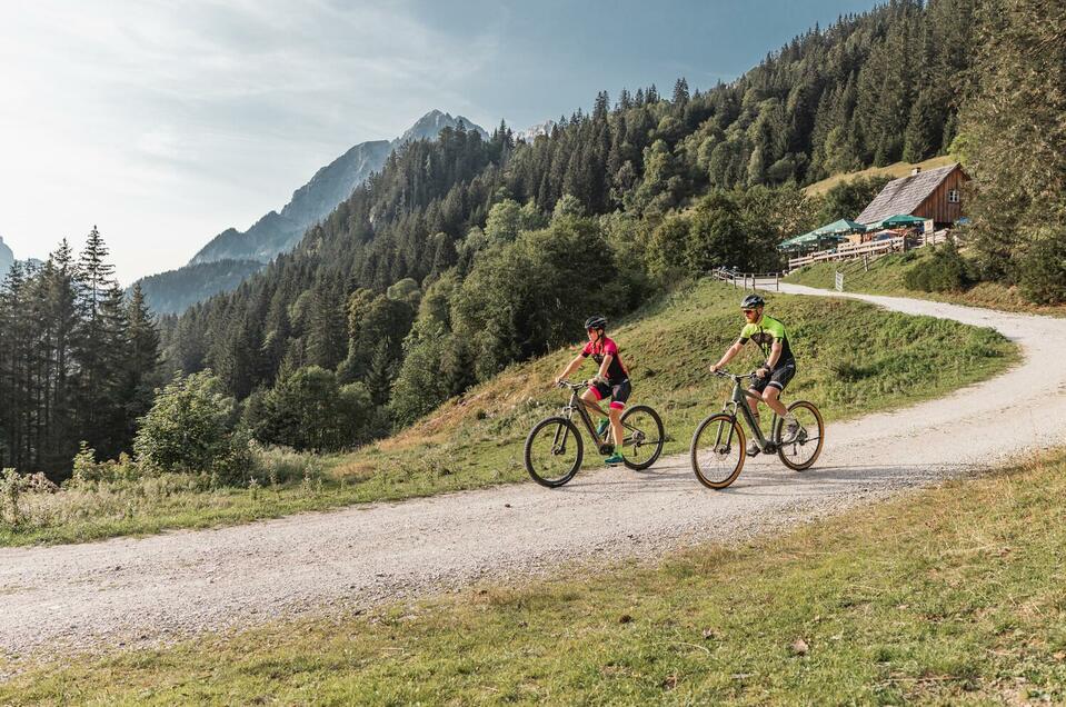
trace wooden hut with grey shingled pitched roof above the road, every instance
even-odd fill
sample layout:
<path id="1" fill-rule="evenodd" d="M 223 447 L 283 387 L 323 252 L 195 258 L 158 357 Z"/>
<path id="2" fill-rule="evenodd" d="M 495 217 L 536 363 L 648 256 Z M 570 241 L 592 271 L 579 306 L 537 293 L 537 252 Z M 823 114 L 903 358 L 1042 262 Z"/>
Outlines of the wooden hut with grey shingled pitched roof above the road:
<path id="1" fill-rule="evenodd" d="M 956 162 L 928 171 L 915 168 L 907 177 L 885 185 L 859 217 L 859 223 L 877 223 L 899 213 L 931 220 L 936 228 L 949 227 L 963 216 L 963 182 L 969 179 Z"/>

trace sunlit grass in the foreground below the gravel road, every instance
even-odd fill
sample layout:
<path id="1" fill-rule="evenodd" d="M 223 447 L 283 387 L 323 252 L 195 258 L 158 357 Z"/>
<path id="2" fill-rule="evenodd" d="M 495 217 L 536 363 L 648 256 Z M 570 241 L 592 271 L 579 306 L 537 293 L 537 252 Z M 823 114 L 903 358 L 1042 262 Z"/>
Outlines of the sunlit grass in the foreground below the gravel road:
<path id="1" fill-rule="evenodd" d="M 1066 455 L 658 567 L 67 659 L 0 703 L 1066 701 Z"/>

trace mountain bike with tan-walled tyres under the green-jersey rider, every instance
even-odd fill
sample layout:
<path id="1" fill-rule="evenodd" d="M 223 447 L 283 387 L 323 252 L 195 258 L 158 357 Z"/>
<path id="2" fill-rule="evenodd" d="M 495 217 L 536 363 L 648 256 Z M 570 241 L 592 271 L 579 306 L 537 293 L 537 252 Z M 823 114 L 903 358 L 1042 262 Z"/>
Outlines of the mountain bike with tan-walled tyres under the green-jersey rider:
<path id="1" fill-rule="evenodd" d="M 754 378 L 755 374 L 736 376 L 720 370 L 715 375 L 733 380 L 733 396 L 721 407 L 721 412 L 715 412 L 700 422 L 696 434 L 693 435 L 690 458 L 693 471 L 696 472 L 700 484 L 708 488 L 721 489 L 740 476 L 747 457 L 747 439 L 744 427 L 740 425 L 741 419 L 747 422 L 763 454 L 777 452 L 781 462 L 789 469 L 803 471 L 817 461 L 825 444 L 826 426 L 821 420 L 821 412 L 813 402 L 797 400 L 788 406 L 788 411 L 799 422 L 799 430 L 787 439 L 783 438 L 785 420 L 775 412 L 770 424 L 773 431 L 767 438 L 759 429 L 748 402 L 748 398 L 759 400 L 759 397 L 741 385 L 743 380 Z"/>

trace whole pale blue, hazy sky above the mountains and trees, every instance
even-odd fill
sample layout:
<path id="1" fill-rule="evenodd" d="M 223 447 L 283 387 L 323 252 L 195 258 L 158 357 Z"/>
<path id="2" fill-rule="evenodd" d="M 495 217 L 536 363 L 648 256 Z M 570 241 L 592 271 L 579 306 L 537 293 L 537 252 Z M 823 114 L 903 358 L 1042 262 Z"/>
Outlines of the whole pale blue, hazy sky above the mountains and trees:
<path id="1" fill-rule="evenodd" d="M 0 0 L 0 237 L 128 285 L 431 109 L 491 130 L 729 81 L 874 0 Z"/>

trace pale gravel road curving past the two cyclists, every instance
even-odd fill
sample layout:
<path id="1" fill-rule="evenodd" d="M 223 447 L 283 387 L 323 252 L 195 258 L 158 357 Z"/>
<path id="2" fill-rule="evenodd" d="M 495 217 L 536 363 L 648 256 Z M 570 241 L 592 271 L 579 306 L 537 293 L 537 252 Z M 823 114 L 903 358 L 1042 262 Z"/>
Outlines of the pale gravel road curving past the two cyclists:
<path id="1" fill-rule="evenodd" d="M 676 456 L 644 474 L 580 474 L 557 490 L 519 484 L 216 530 L 0 549 L 0 655 L 166 643 L 482 578 L 520 580 L 571 561 L 733 541 L 1062 444 L 1066 320 L 846 296 L 994 327 L 1023 346 L 1025 362 L 940 401 L 830 426 L 807 472 L 756 457 L 726 491 L 701 487 L 687 456 Z"/>

